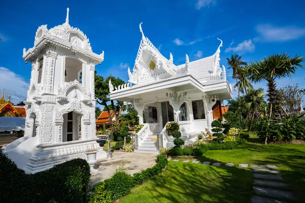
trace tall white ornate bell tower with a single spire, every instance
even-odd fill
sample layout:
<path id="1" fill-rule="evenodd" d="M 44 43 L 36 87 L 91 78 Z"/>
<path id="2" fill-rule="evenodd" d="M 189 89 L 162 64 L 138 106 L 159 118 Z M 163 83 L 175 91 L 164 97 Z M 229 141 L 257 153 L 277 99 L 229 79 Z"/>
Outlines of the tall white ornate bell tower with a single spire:
<path id="1" fill-rule="evenodd" d="M 86 159 L 88 148 L 97 150 L 97 159 L 105 158 L 96 137 L 94 81 L 104 52 L 94 53 L 86 35 L 70 26 L 69 9 L 64 24 L 38 27 L 23 59 L 32 63 L 25 134 L 6 147 L 7 156 L 27 173 Z"/>

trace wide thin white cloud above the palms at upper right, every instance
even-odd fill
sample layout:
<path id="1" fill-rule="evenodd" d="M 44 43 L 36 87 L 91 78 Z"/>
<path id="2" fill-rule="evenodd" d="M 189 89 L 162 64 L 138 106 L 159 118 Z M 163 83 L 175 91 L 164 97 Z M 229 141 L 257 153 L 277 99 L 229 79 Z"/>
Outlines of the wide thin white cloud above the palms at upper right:
<path id="1" fill-rule="evenodd" d="M 297 40 L 305 36 L 305 28 L 296 26 L 275 27 L 270 24 L 256 26 L 260 34 L 255 40 L 265 42 L 287 42 Z"/>

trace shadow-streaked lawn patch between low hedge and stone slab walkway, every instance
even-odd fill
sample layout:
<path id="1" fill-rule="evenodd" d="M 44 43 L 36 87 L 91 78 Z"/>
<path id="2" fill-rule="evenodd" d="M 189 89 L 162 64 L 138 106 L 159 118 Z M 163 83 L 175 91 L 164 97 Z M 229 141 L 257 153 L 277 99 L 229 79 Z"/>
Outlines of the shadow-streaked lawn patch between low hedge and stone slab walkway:
<path id="1" fill-rule="evenodd" d="M 169 161 L 165 172 L 121 202 L 250 202 L 252 186 L 247 168 Z"/>

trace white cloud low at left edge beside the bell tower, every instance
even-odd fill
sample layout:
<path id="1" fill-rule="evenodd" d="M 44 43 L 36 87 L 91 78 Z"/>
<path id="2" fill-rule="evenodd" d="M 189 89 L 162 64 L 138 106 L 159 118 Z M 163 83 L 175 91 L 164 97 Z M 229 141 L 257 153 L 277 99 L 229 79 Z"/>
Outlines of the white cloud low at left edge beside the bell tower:
<path id="1" fill-rule="evenodd" d="M 24 78 L 10 71 L 6 67 L 0 67 L 0 78 L 0 89 L 5 86 L 6 99 L 8 99 L 9 94 L 11 94 L 11 101 L 14 104 L 26 100 L 29 84 L 24 81 Z"/>

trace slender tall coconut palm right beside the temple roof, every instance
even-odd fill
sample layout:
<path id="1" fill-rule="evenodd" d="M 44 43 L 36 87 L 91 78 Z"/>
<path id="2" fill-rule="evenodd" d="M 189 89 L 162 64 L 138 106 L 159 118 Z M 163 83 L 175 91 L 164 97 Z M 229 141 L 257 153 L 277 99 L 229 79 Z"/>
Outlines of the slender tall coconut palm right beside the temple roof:
<path id="1" fill-rule="evenodd" d="M 240 74 L 243 70 L 243 67 L 245 65 L 247 65 L 246 62 L 241 61 L 241 58 L 242 58 L 242 56 L 238 56 L 236 54 L 231 55 L 231 58 L 227 58 L 228 65 L 230 65 L 228 67 L 228 69 L 232 69 L 232 71 L 233 71 L 232 78 L 236 79 L 236 85 L 235 86 L 237 86 L 239 100 L 240 100 L 240 88 L 239 88 L 239 84 L 238 84 L 238 79 L 239 79 Z"/>

